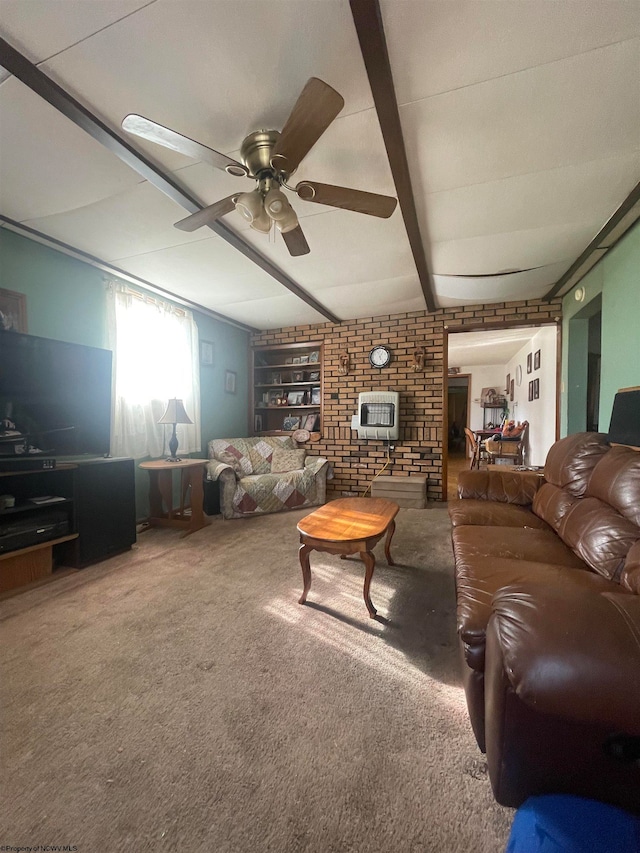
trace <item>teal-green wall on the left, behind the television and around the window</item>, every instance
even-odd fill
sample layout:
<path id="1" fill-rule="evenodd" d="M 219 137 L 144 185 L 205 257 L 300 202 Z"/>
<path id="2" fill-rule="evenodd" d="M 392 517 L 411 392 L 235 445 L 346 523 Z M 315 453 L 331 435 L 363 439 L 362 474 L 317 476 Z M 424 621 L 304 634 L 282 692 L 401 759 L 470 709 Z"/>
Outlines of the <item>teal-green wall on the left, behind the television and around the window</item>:
<path id="1" fill-rule="evenodd" d="M 0 288 L 24 293 L 31 335 L 106 347 L 106 274 L 95 267 L 0 228 Z M 112 278 L 112 276 L 109 276 Z M 214 363 L 200 371 L 202 450 L 212 438 L 248 434 L 249 334 L 194 311 L 201 340 L 214 345 Z M 225 393 L 225 371 L 237 375 Z M 143 476 L 144 475 L 144 476 Z M 136 475 L 138 517 L 148 512 L 146 472 Z"/>

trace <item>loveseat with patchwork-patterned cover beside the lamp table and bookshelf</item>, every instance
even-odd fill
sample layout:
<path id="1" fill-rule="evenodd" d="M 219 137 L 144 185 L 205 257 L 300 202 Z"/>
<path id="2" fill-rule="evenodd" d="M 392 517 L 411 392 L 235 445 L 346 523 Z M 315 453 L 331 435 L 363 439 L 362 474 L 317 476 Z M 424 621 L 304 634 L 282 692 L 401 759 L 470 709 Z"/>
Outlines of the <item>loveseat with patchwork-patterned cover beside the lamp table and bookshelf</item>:
<path id="1" fill-rule="evenodd" d="M 306 456 L 290 436 L 216 438 L 209 442 L 207 479 L 220 481 L 224 518 L 319 506 L 329 464 Z"/>

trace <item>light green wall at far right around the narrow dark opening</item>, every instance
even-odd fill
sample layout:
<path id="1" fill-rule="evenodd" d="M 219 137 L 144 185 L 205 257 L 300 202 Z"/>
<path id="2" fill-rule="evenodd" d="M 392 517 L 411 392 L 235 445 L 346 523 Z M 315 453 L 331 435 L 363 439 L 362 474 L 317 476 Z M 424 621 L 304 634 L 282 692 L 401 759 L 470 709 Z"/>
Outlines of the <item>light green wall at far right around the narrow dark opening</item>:
<path id="1" fill-rule="evenodd" d="M 562 303 L 561 434 L 584 429 L 586 340 L 591 306 L 602 300 L 599 429 L 606 432 L 618 388 L 640 385 L 640 222 L 577 285 Z"/>

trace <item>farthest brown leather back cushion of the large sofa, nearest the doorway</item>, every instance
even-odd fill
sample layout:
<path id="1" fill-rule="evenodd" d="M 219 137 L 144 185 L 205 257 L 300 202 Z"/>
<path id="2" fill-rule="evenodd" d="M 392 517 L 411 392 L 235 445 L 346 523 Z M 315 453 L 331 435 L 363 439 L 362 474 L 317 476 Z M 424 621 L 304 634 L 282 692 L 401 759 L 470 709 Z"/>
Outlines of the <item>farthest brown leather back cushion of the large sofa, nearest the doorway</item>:
<path id="1" fill-rule="evenodd" d="M 607 436 L 601 432 L 578 432 L 561 438 L 547 454 L 544 478 L 580 497 L 587 490 L 593 469 L 609 450 Z"/>

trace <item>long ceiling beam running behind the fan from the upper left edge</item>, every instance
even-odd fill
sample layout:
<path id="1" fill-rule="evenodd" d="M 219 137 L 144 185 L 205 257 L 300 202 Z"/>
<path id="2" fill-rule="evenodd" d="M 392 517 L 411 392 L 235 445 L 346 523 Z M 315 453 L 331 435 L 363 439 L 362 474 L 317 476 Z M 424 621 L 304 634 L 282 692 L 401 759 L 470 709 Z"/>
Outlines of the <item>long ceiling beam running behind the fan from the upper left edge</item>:
<path id="1" fill-rule="evenodd" d="M 161 190 L 173 201 L 177 202 L 189 213 L 196 213 L 205 206 L 184 190 L 169 175 L 148 160 L 143 154 L 118 136 L 111 128 L 100 121 L 65 89 L 54 83 L 44 72 L 30 62 L 5 39 L 0 38 L 0 66 L 13 74 L 20 82 L 62 113 L 99 142 L 112 154 L 134 169 L 141 177 Z M 230 246 L 252 261 L 257 267 L 282 284 L 287 290 L 309 305 L 321 316 L 332 323 L 340 323 L 340 319 L 328 308 L 314 299 L 292 278 L 273 264 L 268 258 L 254 249 L 249 243 L 239 237 L 222 222 L 208 223 L 208 227 Z"/>

